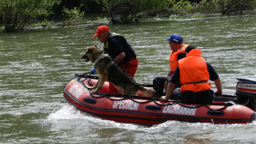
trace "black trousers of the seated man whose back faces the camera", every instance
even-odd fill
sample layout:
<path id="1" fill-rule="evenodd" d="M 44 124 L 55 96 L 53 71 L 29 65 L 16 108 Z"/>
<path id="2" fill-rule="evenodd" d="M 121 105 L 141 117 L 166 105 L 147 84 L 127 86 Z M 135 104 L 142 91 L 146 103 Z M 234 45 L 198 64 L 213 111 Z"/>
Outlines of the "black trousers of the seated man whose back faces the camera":
<path id="1" fill-rule="evenodd" d="M 194 91 L 182 91 L 181 102 L 208 104 L 213 102 L 213 98 L 213 90 L 198 91 L 196 93 Z"/>

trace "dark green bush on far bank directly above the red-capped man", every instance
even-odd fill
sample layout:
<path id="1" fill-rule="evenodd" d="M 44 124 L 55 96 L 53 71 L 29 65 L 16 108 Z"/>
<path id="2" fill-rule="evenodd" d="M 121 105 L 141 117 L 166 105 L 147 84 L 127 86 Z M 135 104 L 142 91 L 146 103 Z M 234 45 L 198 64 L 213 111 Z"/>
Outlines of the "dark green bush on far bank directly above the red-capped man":
<path id="1" fill-rule="evenodd" d="M 167 6 L 166 0 L 96 0 L 109 14 L 112 23 L 134 23 L 146 17 L 147 13 Z"/>

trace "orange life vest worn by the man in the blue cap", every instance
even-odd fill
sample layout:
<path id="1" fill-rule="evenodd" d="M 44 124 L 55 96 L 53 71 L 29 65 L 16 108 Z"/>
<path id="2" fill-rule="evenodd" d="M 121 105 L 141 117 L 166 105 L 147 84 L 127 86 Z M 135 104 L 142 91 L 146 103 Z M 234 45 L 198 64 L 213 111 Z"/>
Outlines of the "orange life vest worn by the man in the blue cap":
<path id="1" fill-rule="evenodd" d="M 183 45 L 182 48 L 178 49 L 177 51 L 170 51 L 170 56 L 169 56 L 169 64 L 170 64 L 170 72 L 171 75 L 174 74 L 174 70 L 178 66 L 178 61 L 177 61 L 177 56 L 178 54 L 186 53 L 186 47 L 189 45 Z"/>

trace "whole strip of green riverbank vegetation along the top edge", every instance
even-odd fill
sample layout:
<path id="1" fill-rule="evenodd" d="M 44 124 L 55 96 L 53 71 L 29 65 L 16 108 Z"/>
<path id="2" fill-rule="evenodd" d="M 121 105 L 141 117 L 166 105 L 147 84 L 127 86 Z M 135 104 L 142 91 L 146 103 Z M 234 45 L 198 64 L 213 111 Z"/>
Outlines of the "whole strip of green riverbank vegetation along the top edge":
<path id="1" fill-rule="evenodd" d="M 238 14 L 255 10 L 256 0 L 0 0 L 0 30 L 25 30 L 28 26 L 61 26 L 86 21 L 87 14 L 104 13 L 112 24 L 142 22 L 145 18 L 179 18 L 184 15 Z"/>

